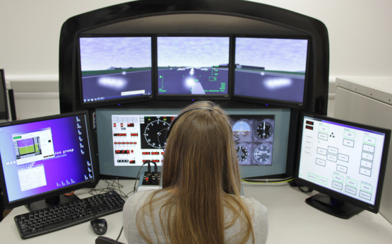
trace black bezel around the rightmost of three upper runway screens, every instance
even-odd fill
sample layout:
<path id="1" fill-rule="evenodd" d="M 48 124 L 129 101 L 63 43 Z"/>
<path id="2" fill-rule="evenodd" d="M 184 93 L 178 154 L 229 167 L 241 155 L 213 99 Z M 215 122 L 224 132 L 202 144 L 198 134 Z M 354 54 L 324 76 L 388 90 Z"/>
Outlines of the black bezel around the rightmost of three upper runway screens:
<path id="1" fill-rule="evenodd" d="M 305 71 L 305 79 L 304 79 L 304 94 L 302 97 L 302 103 L 297 103 L 289 100 L 275 100 L 271 98 L 259 98 L 247 95 L 235 95 L 235 56 L 236 56 L 236 40 L 237 38 L 271 38 L 271 39 L 298 39 L 298 40 L 307 40 L 307 64 L 306 64 L 306 71 Z M 309 83 L 311 83 L 311 71 L 310 71 L 310 64 L 311 64 L 311 37 L 309 36 L 290 36 L 290 35 L 234 35 L 232 40 L 233 45 L 233 53 L 232 53 L 232 100 L 239 100 L 244 102 L 251 102 L 251 103 L 261 103 L 265 105 L 277 105 L 277 106 L 284 106 L 285 108 L 295 108 L 299 110 L 306 110 L 308 106 L 308 99 L 307 93 L 310 90 L 308 88 Z"/>

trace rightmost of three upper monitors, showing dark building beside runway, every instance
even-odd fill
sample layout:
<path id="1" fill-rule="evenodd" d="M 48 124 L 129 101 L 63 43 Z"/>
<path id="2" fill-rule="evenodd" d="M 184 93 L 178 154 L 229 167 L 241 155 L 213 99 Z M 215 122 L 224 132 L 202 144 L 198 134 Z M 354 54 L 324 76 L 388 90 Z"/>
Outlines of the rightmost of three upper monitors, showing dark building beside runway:
<path id="1" fill-rule="evenodd" d="M 233 99 L 305 108 L 309 40 L 235 37 Z"/>

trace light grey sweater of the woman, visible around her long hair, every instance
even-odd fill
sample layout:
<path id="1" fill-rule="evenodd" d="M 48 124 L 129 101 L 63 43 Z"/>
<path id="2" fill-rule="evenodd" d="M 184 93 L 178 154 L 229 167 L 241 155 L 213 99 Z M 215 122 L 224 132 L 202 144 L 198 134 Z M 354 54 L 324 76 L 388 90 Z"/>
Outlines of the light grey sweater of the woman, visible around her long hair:
<path id="1" fill-rule="evenodd" d="M 129 243 L 146 243 L 143 237 L 138 233 L 138 228 L 136 226 L 136 214 L 138 213 L 138 210 L 143 206 L 145 199 L 149 199 L 151 193 L 152 191 L 136 192 L 135 194 L 132 194 L 129 199 L 126 200 L 123 211 L 123 225 L 124 234 L 126 240 Z M 160 192 L 160 194 L 158 194 L 158 196 L 161 196 L 163 194 L 167 194 L 167 192 L 162 191 Z M 252 224 L 254 226 L 255 243 L 266 243 L 268 236 L 268 215 L 266 207 L 260 202 L 256 201 L 256 199 L 254 198 L 242 197 L 242 200 L 247 206 L 249 214 L 251 215 Z M 162 201 L 162 203 L 165 202 L 165 198 L 160 201 Z M 160 206 L 159 202 L 157 206 Z M 158 214 L 159 210 L 160 207 L 153 209 L 154 217 L 152 219 L 146 219 L 146 224 L 148 226 L 151 226 L 151 228 L 148 228 L 148 230 L 146 231 L 152 238 L 153 243 L 158 243 L 157 239 L 160 240 L 160 243 L 165 243 L 164 232 L 162 226 L 160 225 L 160 219 Z M 232 214 L 230 213 L 230 210 L 225 209 L 225 217 L 230 218 L 231 216 Z M 155 236 L 153 223 L 155 223 L 155 225 L 157 226 L 158 238 Z M 239 220 L 237 220 L 234 226 L 227 228 L 225 230 L 225 243 L 237 243 L 238 240 L 236 240 L 235 235 L 237 233 L 241 233 L 242 228 L 244 228 L 244 226 L 242 226 L 242 223 Z M 251 238 L 249 238 L 247 243 L 251 243 Z"/>

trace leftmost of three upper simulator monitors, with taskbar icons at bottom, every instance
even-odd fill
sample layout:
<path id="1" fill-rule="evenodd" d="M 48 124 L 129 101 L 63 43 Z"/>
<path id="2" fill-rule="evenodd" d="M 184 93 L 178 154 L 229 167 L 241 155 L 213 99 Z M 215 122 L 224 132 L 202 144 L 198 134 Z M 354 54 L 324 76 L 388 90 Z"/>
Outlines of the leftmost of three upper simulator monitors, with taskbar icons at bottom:
<path id="1" fill-rule="evenodd" d="M 82 107 L 153 99 L 149 36 L 79 37 Z"/>

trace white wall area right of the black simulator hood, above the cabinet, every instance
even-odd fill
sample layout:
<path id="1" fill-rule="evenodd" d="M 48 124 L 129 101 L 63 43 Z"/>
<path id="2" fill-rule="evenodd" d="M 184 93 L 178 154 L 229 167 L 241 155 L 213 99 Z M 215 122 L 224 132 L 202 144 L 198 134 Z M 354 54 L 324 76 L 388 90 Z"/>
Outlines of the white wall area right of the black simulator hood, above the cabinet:
<path id="1" fill-rule="evenodd" d="M 330 76 L 392 76 L 391 0 L 264 0 L 322 21 Z"/>

